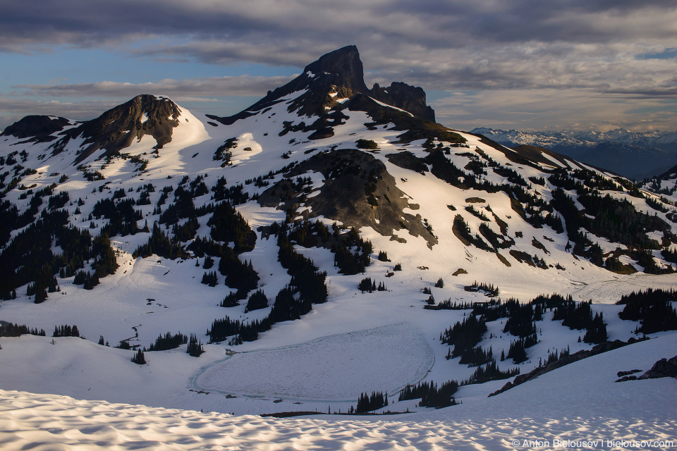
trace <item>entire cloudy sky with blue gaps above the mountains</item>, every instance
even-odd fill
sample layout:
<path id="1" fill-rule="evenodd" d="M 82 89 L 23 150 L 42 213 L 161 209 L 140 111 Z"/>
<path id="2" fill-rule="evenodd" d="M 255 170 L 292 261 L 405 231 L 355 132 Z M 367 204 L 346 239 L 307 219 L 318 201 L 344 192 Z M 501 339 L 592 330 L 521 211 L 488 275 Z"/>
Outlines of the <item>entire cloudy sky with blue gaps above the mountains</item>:
<path id="1" fill-rule="evenodd" d="M 677 130 L 675 0 L 0 0 L 0 130 L 136 94 L 227 116 L 355 44 L 460 130 Z"/>

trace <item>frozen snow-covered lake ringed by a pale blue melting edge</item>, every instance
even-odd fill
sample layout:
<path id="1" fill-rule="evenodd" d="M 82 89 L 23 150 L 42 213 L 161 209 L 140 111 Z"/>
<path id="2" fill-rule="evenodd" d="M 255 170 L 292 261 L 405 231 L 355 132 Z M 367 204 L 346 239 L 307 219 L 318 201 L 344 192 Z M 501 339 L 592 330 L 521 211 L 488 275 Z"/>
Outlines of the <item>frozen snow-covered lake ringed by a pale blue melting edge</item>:
<path id="1" fill-rule="evenodd" d="M 396 395 L 407 383 L 422 380 L 434 359 L 425 336 L 408 323 L 398 323 L 240 352 L 202 368 L 193 386 L 249 397 L 356 402 L 354 395 L 375 387 Z"/>

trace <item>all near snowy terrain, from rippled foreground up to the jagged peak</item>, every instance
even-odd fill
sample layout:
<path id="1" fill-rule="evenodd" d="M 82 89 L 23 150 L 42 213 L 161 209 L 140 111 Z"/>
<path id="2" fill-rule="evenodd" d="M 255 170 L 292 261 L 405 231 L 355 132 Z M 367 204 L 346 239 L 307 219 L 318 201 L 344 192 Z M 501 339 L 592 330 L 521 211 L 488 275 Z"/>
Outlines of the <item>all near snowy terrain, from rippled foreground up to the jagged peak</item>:
<path id="1" fill-rule="evenodd" d="M 230 117 L 27 116 L 0 447 L 674 446 L 673 179 L 445 128 L 355 47 Z"/>

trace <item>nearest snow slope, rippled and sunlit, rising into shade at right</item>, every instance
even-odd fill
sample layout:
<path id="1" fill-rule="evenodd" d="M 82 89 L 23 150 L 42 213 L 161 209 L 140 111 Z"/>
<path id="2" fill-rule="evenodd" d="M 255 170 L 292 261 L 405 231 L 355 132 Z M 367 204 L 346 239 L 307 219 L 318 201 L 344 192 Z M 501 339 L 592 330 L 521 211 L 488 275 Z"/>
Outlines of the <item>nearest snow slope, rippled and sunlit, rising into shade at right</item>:
<path id="1" fill-rule="evenodd" d="M 669 449 L 674 378 L 614 383 L 677 353 L 677 334 L 599 354 L 496 397 L 398 416 L 272 419 L 0 390 L 3 450 Z M 525 441 L 526 440 L 526 441 Z"/>

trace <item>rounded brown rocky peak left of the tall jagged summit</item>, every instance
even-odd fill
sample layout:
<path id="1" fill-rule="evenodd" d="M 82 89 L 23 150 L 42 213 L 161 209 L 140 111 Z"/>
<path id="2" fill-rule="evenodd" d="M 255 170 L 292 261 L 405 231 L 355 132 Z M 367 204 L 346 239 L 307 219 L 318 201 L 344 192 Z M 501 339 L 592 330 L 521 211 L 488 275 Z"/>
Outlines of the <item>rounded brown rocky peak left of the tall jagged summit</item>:
<path id="1" fill-rule="evenodd" d="M 102 156 L 114 155 L 144 135 L 152 135 L 157 142 L 154 149 L 161 149 L 171 141 L 171 132 L 178 126 L 179 116 L 181 110 L 170 99 L 142 94 L 109 109 L 92 121 L 67 130 L 65 137 L 53 144 L 52 153 L 58 154 L 69 140 L 78 136 L 85 138 L 83 146 L 87 147 L 78 153 L 75 163 L 80 163 L 99 149 L 106 151 Z"/>

